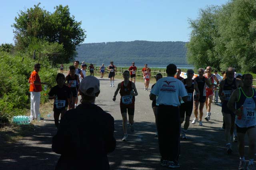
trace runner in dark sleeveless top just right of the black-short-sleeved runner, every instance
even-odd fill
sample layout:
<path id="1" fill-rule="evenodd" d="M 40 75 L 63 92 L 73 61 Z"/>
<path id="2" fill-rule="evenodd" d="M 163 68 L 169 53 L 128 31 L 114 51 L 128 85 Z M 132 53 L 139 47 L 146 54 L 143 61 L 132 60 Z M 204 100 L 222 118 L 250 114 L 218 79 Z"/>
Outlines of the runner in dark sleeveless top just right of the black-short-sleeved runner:
<path id="1" fill-rule="evenodd" d="M 65 80 L 68 82 L 68 86 L 70 87 L 73 97 L 70 101 L 70 105 L 68 105 L 68 109 L 74 109 L 76 98 L 78 96 L 77 88 L 79 87 L 80 81 L 79 81 L 79 77 L 75 74 L 76 68 L 74 66 L 70 66 L 69 71 L 70 71 L 70 74 L 66 76 Z"/>

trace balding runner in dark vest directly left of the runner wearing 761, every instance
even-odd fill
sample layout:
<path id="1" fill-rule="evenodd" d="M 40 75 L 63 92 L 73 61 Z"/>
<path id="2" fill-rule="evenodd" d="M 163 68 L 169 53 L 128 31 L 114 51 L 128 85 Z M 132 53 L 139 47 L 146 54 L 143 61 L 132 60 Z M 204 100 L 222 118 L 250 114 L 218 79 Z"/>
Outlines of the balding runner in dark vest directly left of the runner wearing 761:
<path id="1" fill-rule="evenodd" d="M 226 148 L 228 154 L 231 154 L 233 150 L 230 142 L 231 135 L 234 132 L 235 114 L 228 109 L 227 104 L 232 92 L 241 86 L 241 81 L 234 78 L 234 69 L 232 67 L 227 69 L 226 76 L 226 80 L 220 82 L 219 96 L 220 100 L 222 101 L 222 114 L 225 122 Z"/>

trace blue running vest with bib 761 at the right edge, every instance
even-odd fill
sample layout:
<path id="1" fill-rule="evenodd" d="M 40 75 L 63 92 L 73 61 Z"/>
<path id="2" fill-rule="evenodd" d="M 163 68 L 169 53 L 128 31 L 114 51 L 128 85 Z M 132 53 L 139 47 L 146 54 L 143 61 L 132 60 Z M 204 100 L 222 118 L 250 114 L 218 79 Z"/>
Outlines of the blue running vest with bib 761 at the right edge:
<path id="1" fill-rule="evenodd" d="M 236 109 L 243 105 L 242 118 L 239 120 L 236 116 L 235 123 L 240 128 L 248 128 L 256 125 L 256 90 L 252 88 L 252 96 L 248 97 L 244 94 L 242 88 L 238 88 L 239 98 L 236 102 Z"/>

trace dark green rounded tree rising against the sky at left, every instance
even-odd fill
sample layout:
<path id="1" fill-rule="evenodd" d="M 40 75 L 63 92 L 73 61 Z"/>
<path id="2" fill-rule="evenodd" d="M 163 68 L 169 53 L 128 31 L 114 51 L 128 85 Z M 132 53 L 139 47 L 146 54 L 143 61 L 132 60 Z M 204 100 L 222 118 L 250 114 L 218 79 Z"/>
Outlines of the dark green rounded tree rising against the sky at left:
<path id="1" fill-rule="evenodd" d="M 14 38 L 18 49 L 25 50 L 33 38 L 43 39 L 51 43 L 62 44 L 64 55 L 62 62 L 72 59 L 76 46 L 86 38 L 82 22 L 70 16 L 68 6 L 56 6 L 53 13 L 39 7 L 40 3 L 26 11 L 20 11 L 15 18 Z"/>

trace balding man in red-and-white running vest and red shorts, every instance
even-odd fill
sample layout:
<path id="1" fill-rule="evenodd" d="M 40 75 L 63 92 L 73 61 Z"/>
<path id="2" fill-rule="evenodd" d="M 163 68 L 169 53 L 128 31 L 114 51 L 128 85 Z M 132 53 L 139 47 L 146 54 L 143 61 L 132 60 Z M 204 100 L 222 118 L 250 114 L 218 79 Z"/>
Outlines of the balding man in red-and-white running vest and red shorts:
<path id="1" fill-rule="evenodd" d="M 206 78 L 208 78 L 210 86 L 206 86 L 206 100 L 205 100 L 205 105 L 206 105 L 206 110 L 207 110 L 207 115 L 204 118 L 206 121 L 210 120 L 210 116 L 211 116 L 211 104 L 212 104 L 212 98 L 213 98 L 213 87 L 217 86 L 216 84 L 214 84 L 214 80 L 217 82 L 217 84 L 219 84 L 219 80 L 218 78 L 212 74 L 212 67 L 208 66 L 206 67 L 206 74 L 204 74 L 204 76 Z"/>

